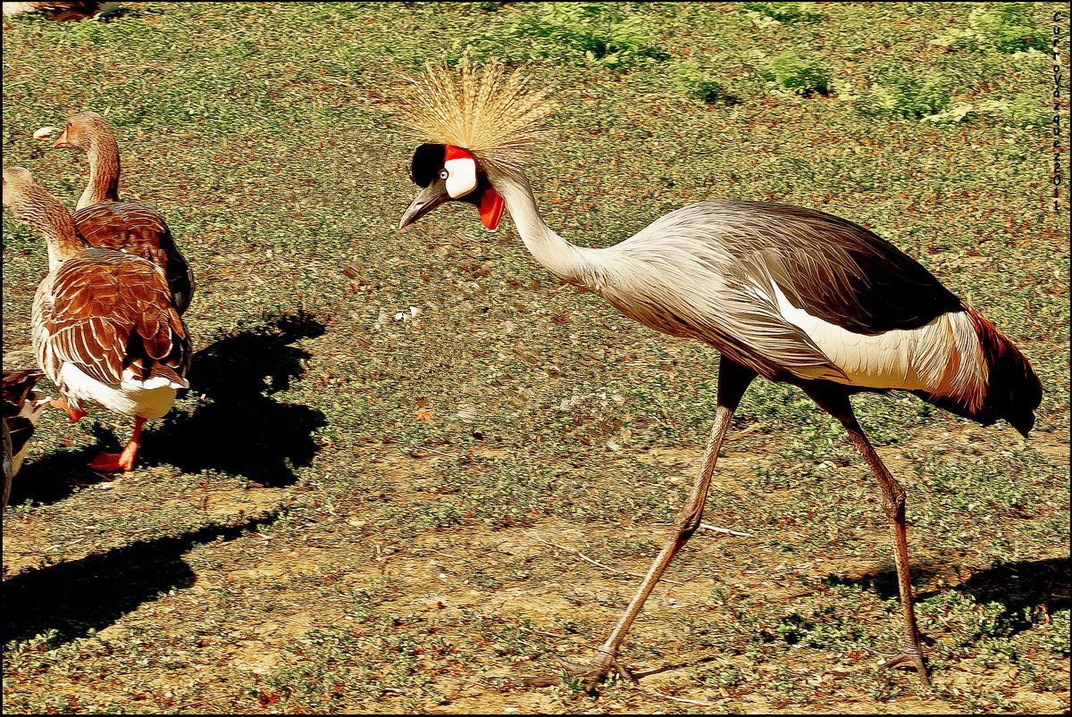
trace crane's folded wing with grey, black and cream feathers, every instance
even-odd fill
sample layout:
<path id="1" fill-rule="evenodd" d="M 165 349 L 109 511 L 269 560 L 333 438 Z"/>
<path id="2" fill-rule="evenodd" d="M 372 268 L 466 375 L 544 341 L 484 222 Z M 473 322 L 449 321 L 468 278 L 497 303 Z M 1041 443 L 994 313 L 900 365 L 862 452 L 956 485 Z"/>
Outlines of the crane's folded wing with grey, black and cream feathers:
<path id="1" fill-rule="evenodd" d="M 709 304 L 688 320 L 697 333 L 680 335 L 741 360 L 735 350 L 750 368 L 774 363 L 800 378 L 956 397 L 978 395 L 985 382 L 959 299 L 851 222 L 785 205 L 702 201 L 613 249 L 675 256 L 689 274 L 674 280 L 675 292 L 691 289 L 703 296 L 689 304 Z"/>

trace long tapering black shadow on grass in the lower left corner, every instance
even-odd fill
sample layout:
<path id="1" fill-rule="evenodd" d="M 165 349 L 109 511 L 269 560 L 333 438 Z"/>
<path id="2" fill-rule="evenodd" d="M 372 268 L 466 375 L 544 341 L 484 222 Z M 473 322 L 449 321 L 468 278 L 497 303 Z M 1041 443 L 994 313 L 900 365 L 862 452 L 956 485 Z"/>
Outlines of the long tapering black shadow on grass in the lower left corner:
<path id="1" fill-rule="evenodd" d="M 180 536 L 142 540 L 78 561 L 27 570 L 0 584 L 3 643 L 49 633 L 47 649 L 114 624 L 161 593 L 196 578 L 182 555 L 213 540 L 233 540 L 280 511 L 238 525 L 206 525 Z"/>

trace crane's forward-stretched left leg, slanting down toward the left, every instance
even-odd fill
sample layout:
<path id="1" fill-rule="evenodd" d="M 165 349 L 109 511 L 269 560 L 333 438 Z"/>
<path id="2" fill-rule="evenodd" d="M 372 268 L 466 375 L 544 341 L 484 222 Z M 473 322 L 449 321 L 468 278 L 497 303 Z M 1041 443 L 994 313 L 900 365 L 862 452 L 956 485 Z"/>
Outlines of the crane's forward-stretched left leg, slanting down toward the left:
<path id="1" fill-rule="evenodd" d="M 617 625 L 599 648 L 599 655 L 580 675 L 584 678 L 585 689 L 590 691 L 595 689 L 604 677 L 616 669 L 617 649 L 622 645 L 622 641 L 625 639 L 629 627 L 632 625 L 632 621 L 640 613 L 640 609 L 644 606 L 644 601 L 647 600 L 647 596 L 651 595 L 659 578 L 662 577 L 667 567 L 673 562 L 678 551 L 682 549 L 693 536 L 693 533 L 696 532 L 696 528 L 700 526 L 700 519 L 703 517 L 703 503 L 708 497 L 708 487 L 711 484 L 711 478 L 715 474 L 715 463 L 718 461 L 718 451 L 721 449 L 723 439 L 730 428 L 730 418 L 733 416 L 733 412 L 736 410 L 741 398 L 755 377 L 756 374 L 751 371 L 723 358 L 718 370 L 718 408 L 715 413 L 715 423 L 711 428 L 711 434 L 708 437 L 708 447 L 703 453 L 703 467 L 700 470 L 700 476 L 693 486 L 693 492 L 688 501 L 678 512 L 676 518 L 674 518 L 670 535 L 667 536 L 667 541 L 662 546 L 662 550 L 655 558 L 655 562 L 652 563 L 647 576 L 640 583 L 636 597 L 632 598 L 629 607 L 622 613 Z"/>

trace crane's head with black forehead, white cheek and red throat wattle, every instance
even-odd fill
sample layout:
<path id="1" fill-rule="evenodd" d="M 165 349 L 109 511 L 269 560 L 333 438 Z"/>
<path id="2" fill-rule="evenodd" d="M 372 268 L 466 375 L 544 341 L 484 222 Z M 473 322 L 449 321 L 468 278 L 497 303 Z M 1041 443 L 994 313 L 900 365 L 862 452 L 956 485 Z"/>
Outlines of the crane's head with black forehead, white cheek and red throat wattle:
<path id="1" fill-rule="evenodd" d="M 413 154 L 410 177 L 422 189 L 402 214 L 400 230 L 447 201 L 475 206 L 489 229 L 498 226 L 503 218 L 503 198 L 468 150 L 452 145 L 421 145 Z"/>

